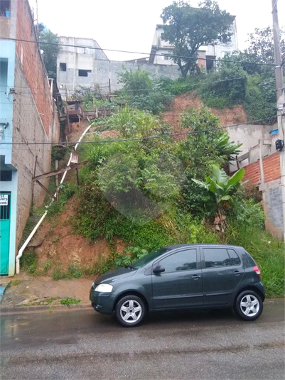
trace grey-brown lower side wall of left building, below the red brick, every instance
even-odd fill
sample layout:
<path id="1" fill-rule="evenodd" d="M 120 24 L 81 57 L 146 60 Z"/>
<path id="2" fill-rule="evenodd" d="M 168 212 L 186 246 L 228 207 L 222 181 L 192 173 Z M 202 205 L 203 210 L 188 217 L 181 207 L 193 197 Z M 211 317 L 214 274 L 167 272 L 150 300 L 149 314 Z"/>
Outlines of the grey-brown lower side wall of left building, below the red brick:
<path id="1" fill-rule="evenodd" d="M 14 141 L 50 141 L 41 125 L 41 116 L 33 101 L 33 94 L 28 90 L 26 76 L 21 70 L 21 63 L 15 61 L 15 87 L 24 88 L 25 96 L 15 95 L 14 117 L 13 117 L 13 139 Z M 54 124 L 58 128 L 58 116 L 54 114 Z M 16 246 L 21 240 L 23 229 L 28 219 L 32 202 L 35 207 L 42 205 L 45 192 L 38 184 L 33 184 L 33 170 L 37 156 L 36 175 L 46 173 L 50 170 L 51 145 L 14 145 L 12 150 L 12 163 L 18 170 L 18 196 L 17 196 L 17 230 Z M 41 181 L 48 187 L 48 178 Z M 33 194 L 33 199 L 32 199 Z"/>

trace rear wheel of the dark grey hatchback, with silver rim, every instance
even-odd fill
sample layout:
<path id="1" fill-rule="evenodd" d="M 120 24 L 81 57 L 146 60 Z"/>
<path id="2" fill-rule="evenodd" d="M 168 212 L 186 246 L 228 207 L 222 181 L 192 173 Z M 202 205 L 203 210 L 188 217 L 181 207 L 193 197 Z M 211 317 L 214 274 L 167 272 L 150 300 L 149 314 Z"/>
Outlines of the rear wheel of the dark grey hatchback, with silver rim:
<path id="1" fill-rule="evenodd" d="M 235 301 L 235 313 L 242 320 L 256 320 L 263 310 L 262 298 L 254 291 L 243 291 Z"/>

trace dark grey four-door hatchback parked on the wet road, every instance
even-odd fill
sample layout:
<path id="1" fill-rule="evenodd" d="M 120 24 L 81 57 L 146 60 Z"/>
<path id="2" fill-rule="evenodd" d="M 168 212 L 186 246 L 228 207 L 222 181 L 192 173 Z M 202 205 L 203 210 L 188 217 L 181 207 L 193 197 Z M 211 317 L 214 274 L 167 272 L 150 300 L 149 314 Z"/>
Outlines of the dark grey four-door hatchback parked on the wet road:
<path id="1" fill-rule="evenodd" d="M 90 289 L 92 307 L 136 326 L 147 312 L 234 308 L 256 320 L 265 297 L 260 271 L 241 246 L 179 244 L 104 273 Z"/>

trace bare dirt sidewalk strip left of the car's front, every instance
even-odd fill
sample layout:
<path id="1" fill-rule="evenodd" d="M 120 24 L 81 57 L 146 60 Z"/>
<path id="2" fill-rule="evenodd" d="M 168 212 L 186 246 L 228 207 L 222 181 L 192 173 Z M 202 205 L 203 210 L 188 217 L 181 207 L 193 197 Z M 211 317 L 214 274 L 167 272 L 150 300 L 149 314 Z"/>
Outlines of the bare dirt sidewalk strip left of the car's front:
<path id="1" fill-rule="evenodd" d="M 0 278 L 0 289 L 4 291 L 1 309 L 60 305 L 66 298 L 71 304 L 80 300 L 79 305 L 90 305 L 91 284 L 92 280 L 87 278 L 55 281 L 48 276 L 33 277 L 22 271 L 14 277 Z"/>

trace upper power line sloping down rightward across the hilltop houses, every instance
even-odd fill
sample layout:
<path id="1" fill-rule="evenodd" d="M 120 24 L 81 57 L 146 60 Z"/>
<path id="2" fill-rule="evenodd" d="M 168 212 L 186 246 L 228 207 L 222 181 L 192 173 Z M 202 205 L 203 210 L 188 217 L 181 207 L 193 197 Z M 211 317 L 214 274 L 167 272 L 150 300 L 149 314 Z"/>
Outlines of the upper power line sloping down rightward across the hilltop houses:
<path id="1" fill-rule="evenodd" d="M 137 52 L 137 51 L 129 51 L 129 50 L 116 50 L 116 49 L 104 49 L 104 48 L 95 48 L 93 46 L 84 46 L 84 45 L 71 45 L 71 44 L 68 44 L 68 43 L 51 43 L 51 42 L 43 42 L 41 40 L 39 41 L 35 41 L 35 40 L 23 40 L 21 38 L 0 38 L 1 40 L 12 40 L 12 41 L 19 41 L 19 42 L 27 42 L 27 43 L 36 43 L 37 45 L 38 44 L 44 44 L 44 45 L 55 45 L 55 46 L 66 46 L 68 48 L 83 48 L 83 49 L 92 49 L 92 50 L 104 50 L 104 51 L 112 51 L 112 52 L 115 52 L 115 53 L 129 53 L 129 54 L 142 54 L 142 55 L 156 55 L 158 57 L 165 57 L 166 54 L 150 54 L 150 53 L 141 53 L 141 52 Z M 267 65 L 267 66 L 272 66 L 274 67 L 274 63 L 260 63 L 260 62 L 247 62 L 247 61 L 236 61 L 236 60 L 219 60 L 219 59 L 216 59 L 216 58 L 198 58 L 198 57 L 188 57 L 187 55 L 172 55 L 172 54 L 168 54 L 169 57 L 171 58 L 180 58 L 180 59 L 183 59 L 183 60 L 210 60 L 210 61 L 213 61 L 213 62 L 225 62 L 225 63 L 242 63 L 242 64 L 249 64 L 249 65 Z M 97 60 L 97 58 L 96 58 Z M 102 59 L 99 59 L 98 60 L 102 60 Z M 107 59 L 109 60 L 109 59 Z M 124 61 L 122 61 L 124 62 Z"/>

